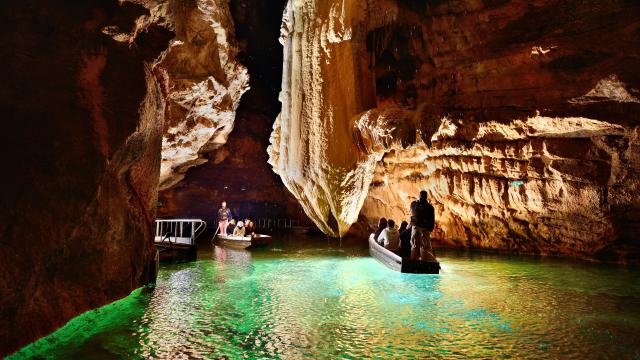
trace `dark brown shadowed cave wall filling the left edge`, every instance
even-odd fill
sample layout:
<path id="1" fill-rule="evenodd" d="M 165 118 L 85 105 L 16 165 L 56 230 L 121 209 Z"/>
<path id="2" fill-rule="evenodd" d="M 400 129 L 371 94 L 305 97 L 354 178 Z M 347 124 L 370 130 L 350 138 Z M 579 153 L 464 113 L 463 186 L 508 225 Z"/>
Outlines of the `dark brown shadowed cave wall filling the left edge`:
<path id="1" fill-rule="evenodd" d="M 173 34 L 117 1 L 0 5 L 0 356 L 152 280 Z"/>

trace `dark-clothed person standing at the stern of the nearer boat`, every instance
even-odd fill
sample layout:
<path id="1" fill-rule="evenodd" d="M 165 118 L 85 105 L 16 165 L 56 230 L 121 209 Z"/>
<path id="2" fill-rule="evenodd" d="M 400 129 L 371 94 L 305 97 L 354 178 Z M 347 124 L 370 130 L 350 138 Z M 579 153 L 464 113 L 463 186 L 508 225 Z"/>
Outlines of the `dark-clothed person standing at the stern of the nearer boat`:
<path id="1" fill-rule="evenodd" d="M 411 203 L 411 259 L 433 259 L 430 234 L 435 226 L 435 209 L 428 201 L 426 191 Z"/>

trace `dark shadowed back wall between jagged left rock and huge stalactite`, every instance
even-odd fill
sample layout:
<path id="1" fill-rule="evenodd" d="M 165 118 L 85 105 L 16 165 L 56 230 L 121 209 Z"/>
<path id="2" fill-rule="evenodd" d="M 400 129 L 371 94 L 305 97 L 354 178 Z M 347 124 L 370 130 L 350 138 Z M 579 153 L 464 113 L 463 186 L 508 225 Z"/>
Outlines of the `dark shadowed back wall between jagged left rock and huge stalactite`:
<path id="1" fill-rule="evenodd" d="M 242 95 L 226 143 L 202 151 L 205 163 L 190 168 L 175 186 L 161 190 L 159 217 L 200 218 L 213 231 L 215 214 L 224 199 L 235 216 L 308 222 L 300 205 L 271 171 L 265 152 L 280 110 L 282 48 L 278 37 L 284 3 L 229 2 L 231 25 L 235 27 L 229 32 L 235 34 L 236 58 L 251 77 L 250 89 Z"/>

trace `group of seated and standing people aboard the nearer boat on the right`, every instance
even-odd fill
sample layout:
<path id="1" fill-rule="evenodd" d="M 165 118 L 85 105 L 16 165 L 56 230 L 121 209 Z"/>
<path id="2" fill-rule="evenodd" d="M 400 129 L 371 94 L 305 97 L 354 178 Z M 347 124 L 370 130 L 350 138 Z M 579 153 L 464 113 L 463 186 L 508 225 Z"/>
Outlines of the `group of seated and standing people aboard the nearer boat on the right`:
<path id="1" fill-rule="evenodd" d="M 411 259 L 434 259 L 430 234 L 435 227 L 435 210 L 427 200 L 427 192 L 421 191 L 420 198 L 411 203 L 411 224 L 403 221 L 400 228 L 396 222 L 381 218 L 374 233 L 374 240 L 397 253 Z"/>

